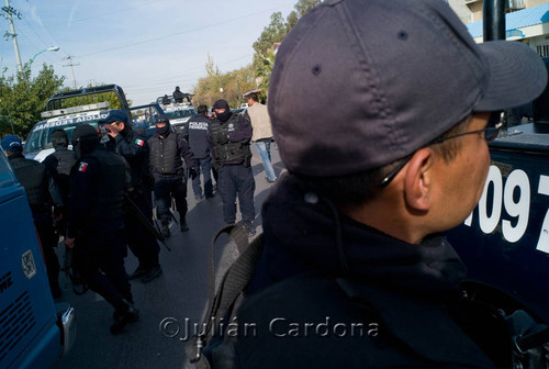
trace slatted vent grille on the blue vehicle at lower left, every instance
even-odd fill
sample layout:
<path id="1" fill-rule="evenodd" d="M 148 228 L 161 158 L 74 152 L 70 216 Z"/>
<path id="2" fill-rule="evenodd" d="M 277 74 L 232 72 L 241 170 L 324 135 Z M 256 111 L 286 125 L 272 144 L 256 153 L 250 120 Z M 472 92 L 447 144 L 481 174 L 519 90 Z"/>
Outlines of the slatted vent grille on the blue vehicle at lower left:
<path id="1" fill-rule="evenodd" d="M 36 324 L 29 291 L 0 313 L 0 364 Z"/>

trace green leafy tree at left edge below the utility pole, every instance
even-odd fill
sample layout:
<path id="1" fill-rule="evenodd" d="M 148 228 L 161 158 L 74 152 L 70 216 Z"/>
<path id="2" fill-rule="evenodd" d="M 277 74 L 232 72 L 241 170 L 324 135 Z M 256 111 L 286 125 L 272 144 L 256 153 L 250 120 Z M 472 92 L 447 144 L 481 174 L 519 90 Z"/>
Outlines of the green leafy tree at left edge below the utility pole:
<path id="1" fill-rule="evenodd" d="M 44 64 L 38 76 L 31 79 L 31 70 L 23 69 L 16 76 L 0 77 L 0 115 L 13 123 L 16 135 L 26 137 L 32 126 L 41 121 L 47 99 L 59 90 L 65 77 L 55 75 L 52 66 Z M 11 124 L 0 125 L 0 134 L 11 133 Z"/>

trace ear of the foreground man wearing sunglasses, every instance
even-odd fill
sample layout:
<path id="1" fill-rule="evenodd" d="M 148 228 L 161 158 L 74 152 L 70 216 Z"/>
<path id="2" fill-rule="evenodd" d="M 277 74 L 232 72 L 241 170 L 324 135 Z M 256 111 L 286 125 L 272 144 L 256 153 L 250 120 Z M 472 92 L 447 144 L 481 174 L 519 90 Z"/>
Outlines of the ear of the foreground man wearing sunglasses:
<path id="1" fill-rule="evenodd" d="M 410 159 L 404 178 L 404 197 L 412 209 L 427 211 L 432 206 L 433 160 L 434 153 L 429 148 L 418 149 Z"/>

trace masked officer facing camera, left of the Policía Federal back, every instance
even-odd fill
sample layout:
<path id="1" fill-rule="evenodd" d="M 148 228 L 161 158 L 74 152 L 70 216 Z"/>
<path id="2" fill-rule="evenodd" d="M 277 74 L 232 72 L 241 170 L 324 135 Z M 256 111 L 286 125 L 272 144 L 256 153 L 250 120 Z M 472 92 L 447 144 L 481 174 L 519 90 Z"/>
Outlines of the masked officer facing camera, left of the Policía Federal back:
<path id="1" fill-rule="evenodd" d="M 183 160 L 189 168 L 191 178 L 197 177 L 194 158 L 189 145 L 179 133 L 171 128 L 169 119 L 159 115 L 156 119 L 156 133 L 147 141 L 150 147 L 150 172 L 155 178 L 155 200 L 157 215 L 163 224 L 163 234 L 169 237 L 169 222 L 171 217 L 171 199 L 176 199 L 179 212 L 179 227 L 181 232 L 189 231 L 187 225 L 187 176 Z"/>

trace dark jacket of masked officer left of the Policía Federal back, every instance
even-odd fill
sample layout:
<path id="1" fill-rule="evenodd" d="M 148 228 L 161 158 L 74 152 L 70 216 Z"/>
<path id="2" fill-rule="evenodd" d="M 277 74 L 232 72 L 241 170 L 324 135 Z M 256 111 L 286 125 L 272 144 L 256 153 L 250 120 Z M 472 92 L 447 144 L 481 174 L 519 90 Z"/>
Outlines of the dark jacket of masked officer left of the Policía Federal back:
<path id="1" fill-rule="evenodd" d="M 153 177 L 183 176 L 184 167 L 194 167 L 194 157 L 184 138 L 176 132 L 170 132 L 166 137 L 158 133 L 147 141 L 150 147 L 149 165 Z"/>

